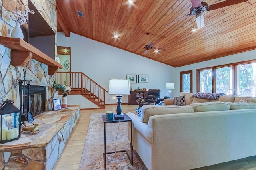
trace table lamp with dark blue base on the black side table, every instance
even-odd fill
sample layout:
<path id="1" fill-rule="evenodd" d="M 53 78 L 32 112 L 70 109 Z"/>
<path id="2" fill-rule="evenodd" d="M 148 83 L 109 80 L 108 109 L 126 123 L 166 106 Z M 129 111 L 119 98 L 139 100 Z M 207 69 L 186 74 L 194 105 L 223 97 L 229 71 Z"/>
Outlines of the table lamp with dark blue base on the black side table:
<path id="1" fill-rule="evenodd" d="M 116 95 L 117 101 L 117 108 L 116 108 L 116 115 L 114 115 L 115 119 L 124 119 L 124 115 L 122 115 L 121 109 L 121 97 L 122 95 L 130 95 L 130 81 L 128 79 L 110 79 L 109 80 L 109 89 L 108 94 Z"/>

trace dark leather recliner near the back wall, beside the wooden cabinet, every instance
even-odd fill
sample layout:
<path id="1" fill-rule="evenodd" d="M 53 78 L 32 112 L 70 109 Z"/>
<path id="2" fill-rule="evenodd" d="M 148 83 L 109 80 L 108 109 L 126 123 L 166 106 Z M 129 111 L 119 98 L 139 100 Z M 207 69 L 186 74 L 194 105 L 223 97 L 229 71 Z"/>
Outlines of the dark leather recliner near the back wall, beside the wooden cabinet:
<path id="1" fill-rule="evenodd" d="M 150 103 L 155 103 L 155 105 L 162 105 L 160 94 L 160 89 L 149 89 L 146 97 L 140 98 L 139 107 L 142 107 L 143 105 L 150 105 Z"/>

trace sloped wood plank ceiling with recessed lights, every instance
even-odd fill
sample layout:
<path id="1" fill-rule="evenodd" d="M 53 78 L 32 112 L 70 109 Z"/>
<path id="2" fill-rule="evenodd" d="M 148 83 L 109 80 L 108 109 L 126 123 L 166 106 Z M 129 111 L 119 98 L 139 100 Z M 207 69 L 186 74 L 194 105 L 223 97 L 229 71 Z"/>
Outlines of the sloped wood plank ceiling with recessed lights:
<path id="1" fill-rule="evenodd" d="M 195 16 L 163 26 L 189 14 L 190 0 L 56 0 L 56 7 L 58 31 L 66 36 L 73 32 L 173 67 L 256 49 L 256 0 L 204 12 L 205 26 L 196 32 Z M 153 47 L 167 50 L 144 55 L 147 32 Z"/>

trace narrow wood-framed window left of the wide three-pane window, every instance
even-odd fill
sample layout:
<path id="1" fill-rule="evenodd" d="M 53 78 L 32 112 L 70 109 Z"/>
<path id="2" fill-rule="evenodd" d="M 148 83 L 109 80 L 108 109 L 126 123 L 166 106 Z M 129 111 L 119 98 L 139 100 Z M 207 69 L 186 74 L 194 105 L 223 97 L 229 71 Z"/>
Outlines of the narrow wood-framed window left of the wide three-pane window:
<path id="1" fill-rule="evenodd" d="M 192 70 L 180 72 L 180 92 L 192 93 Z"/>

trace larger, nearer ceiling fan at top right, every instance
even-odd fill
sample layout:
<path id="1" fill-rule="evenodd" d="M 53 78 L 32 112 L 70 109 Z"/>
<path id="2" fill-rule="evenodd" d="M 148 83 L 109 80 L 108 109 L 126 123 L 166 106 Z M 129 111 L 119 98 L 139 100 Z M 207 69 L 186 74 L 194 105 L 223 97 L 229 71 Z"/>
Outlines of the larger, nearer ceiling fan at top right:
<path id="1" fill-rule="evenodd" d="M 190 0 L 192 3 L 192 7 L 190 8 L 190 14 L 185 15 L 181 18 L 178 18 L 176 20 L 173 20 L 171 22 L 167 22 L 163 26 L 167 26 L 173 22 L 176 22 L 178 20 L 182 20 L 183 18 L 189 17 L 189 16 L 196 16 L 196 24 L 197 24 L 197 29 L 202 28 L 204 26 L 204 16 L 203 12 L 205 11 L 211 11 L 211 10 L 216 10 L 225 6 L 230 6 L 234 4 L 238 4 L 241 2 L 246 2 L 248 0 L 226 0 L 222 1 L 213 5 L 209 5 L 206 2 L 201 2 L 201 0 Z"/>

